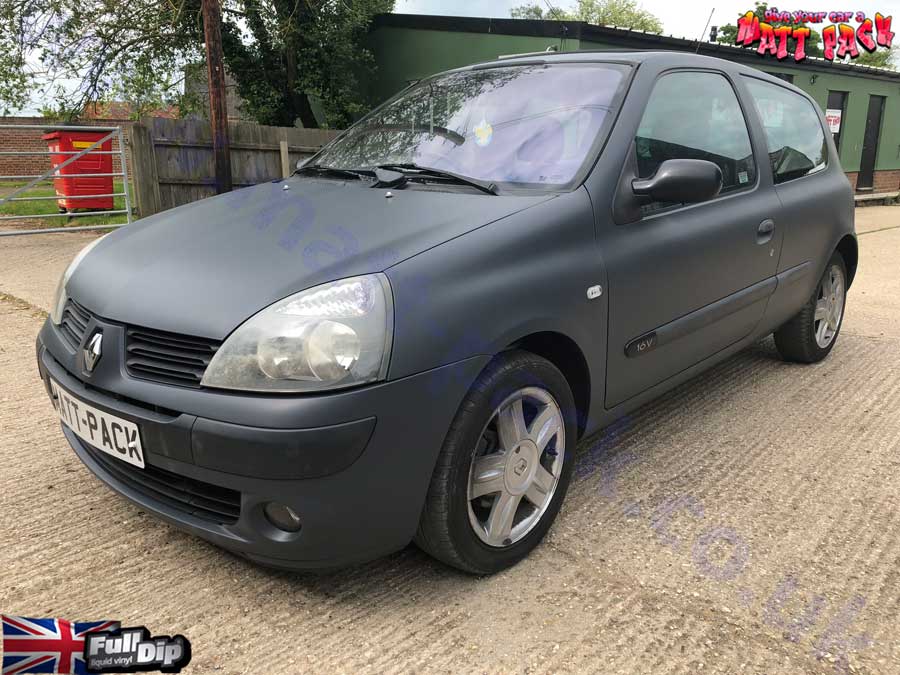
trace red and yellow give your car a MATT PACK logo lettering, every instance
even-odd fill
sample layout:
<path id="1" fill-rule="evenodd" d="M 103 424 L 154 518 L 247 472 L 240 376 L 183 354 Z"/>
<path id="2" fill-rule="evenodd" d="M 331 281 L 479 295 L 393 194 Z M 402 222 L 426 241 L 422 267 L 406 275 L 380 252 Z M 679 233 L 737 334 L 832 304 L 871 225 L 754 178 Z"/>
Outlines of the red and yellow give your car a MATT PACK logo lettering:
<path id="1" fill-rule="evenodd" d="M 763 56 L 781 60 L 793 54 L 795 61 L 802 61 L 812 33 L 809 24 L 828 23 L 821 31 L 822 57 L 828 61 L 855 59 L 863 53 L 861 49 L 872 53 L 879 47 L 891 48 L 891 19 L 880 12 L 875 13 L 873 21 L 865 12 L 786 12 L 773 7 L 763 16 L 750 11 L 740 17 L 735 44 L 756 45 L 757 53 Z"/>

